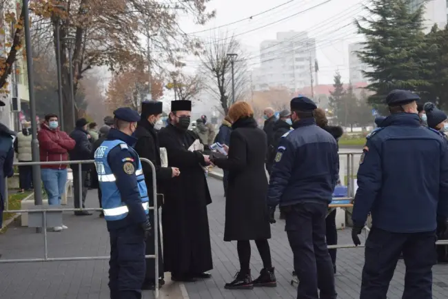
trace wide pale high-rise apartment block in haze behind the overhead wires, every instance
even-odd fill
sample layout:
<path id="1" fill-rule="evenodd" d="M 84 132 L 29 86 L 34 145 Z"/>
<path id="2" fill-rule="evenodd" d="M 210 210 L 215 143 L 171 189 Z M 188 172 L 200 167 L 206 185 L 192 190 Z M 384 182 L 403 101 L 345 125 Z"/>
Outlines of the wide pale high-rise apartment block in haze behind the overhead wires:
<path id="1" fill-rule="evenodd" d="M 316 39 L 307 32 L 277 32 L 276 39 L 261 43 L 260 53 L 261 66 L 252 73 L 253 90 L 286 87 L 296 92 L 311 85 L 311 74 L 316 78 Z"/>

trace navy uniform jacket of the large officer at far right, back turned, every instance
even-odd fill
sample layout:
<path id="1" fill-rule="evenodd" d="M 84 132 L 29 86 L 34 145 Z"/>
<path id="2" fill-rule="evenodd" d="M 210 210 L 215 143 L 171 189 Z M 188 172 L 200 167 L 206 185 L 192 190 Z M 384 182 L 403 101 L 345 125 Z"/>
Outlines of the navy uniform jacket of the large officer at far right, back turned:
<path id="1" fill-rule="evenodd" d="M 393 114 L 368 139 L 360 158 L 352 220 L 397 233 L 436 229 L 448 216 L 447 141 L 417 114 Z"/>

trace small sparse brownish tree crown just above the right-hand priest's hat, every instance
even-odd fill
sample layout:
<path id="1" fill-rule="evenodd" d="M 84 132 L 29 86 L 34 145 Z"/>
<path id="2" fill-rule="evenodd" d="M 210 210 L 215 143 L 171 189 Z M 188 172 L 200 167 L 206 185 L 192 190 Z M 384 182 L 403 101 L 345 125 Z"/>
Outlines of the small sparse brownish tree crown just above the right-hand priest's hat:
<path id="1" fill-rule="evenodd" d="M 185 74 L 181 70 L 170 72 L 170 80 L 168 87 L 174 90 L 178 100 L 194 101 L 204 87 L 201 76 Z"/>

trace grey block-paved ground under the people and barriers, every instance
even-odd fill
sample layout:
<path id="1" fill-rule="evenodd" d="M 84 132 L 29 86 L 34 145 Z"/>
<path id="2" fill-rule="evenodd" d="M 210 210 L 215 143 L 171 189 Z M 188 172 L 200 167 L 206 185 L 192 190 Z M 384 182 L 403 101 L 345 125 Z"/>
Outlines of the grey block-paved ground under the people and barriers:
<path id="1" fill-rule="evenodd" d="M 238 271 L 236 243 L 223 241 L 225 198 L 222 182 L 209 178 L 213 203 L 209 205 L 210 236 L 214 269 L 212 279 L 185 284 L 188 296 L 196 298 L 296 298 L 296 287 L 289 285 L 292 272 L 292 252 L 287 243 L 282 221 L 272 225 L 269 244 L 276 267 L 278 287 L 261 288 L 253 291 L 228 291 L 223 288 L 225 282 L 232 280 Z M 87 203 L 97 207 L 96 190 L 90 190 Z M 69 228 L 59 233 L 48 233 L 48 252 L 50 257 L 72 256 L 108 256 L 109 237 L 104 220 L 98 213 L 92 216 L 77 217 L 66 213 L 64 223 Z M 349 231 L 339 232 L 340 244 L 350 243 Z M 254 245 L 253 245 L 254 246 Z M 35 234 L 34 229 L 16 224 L 0 235 L 0 253 L 2 259 L 41 258 L 43 256 L 43 235 Z M 261 258 L 252 248 L 252 276 L 256 276 L 262 267 Z M 340 249 L 338 251 L 338 274 L 336 286 L 338 298 L 359 297 L 360 276 L 363 266 L 363 249 Z M 108 289 L 108 261 L 70 261 L 70 262 L 33 262 L 0 264 L 1 299 L 106 299 Z M 391 282 L 387 298 L 400 298 L 403 291 L 405 268 L 399 262 L 394 279 Z M 433 298 L 448 298 L 448 266 L 434 267 Z M 178 287 L 175 285 L 174 287 Z M 163 287 L 163 289 L 167 289 Z M 176 291 L 176 290 L 175 290 Z M 152 299 L 151 292 L 143 292 L 143 299 Z M 161 298 L 163 298 L 161 296 Z M 176 295 L 169 297 L 182 298 Z"/>

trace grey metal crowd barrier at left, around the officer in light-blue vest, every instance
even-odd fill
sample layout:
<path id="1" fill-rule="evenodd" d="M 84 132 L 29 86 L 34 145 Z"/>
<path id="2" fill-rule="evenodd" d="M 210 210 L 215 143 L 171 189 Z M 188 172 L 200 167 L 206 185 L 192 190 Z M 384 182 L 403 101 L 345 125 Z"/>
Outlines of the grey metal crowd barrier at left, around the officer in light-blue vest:
<path id="1" fill-rule="evenodd" d="M 159 213 L 157 208 L 154 208 L 156 206 L 156 169 L 154 167 L 154 164 L 146 159 L 146 158 L 140 158 L 140 160 L 144 163 L 148 163 L 151 167 L 153 176 L 152 176 L 152 198 L 154 205 L 150 207 L 150 210 L 152 209 L 154 212 L 154 254 L 153 255 L 145 255 L 145 258 L 154 258 L 155 259 L 155 291 L 154 295 L 155 298 L 159 298 Z M 43 258 L 20 258 L 20 259 L 11 259 L 11 260 L 3 260 L 0 259 L 0 264 L 5 263 L 13 263 L 13 262 L 61 262 L 61 261 L 74 261 L 74 260 L 109 260 L 110 256 L 77 256 L 77 257 L 70 257 L 70 258 L 50 258 L 48 257 L 48 240 L 47 240 L 47 217 L 48 213 L 54 213 L 54 212 L 77 212 L 77 211 L 101 211 L 101 208 L 83 208 L 82 202 L 81 202 L 81 194 L 82 194 L 82 188 L 83 188 L 83 181 L 82 181 L 82 174 L 81 174 L 81 165 L 82 164 L 90 164 L 94 163 L 94 160 L 85 160 L 85 161 L 57 161 L 57 162 L 19 162 L 14 163 L 14 165 L 17 166 L 26 166 L 26 165 L 69 165 L 69 164 L 77 164 L 78 165 L 78 178 L 79 178 L 79 209 L 8 209 L 8 200 L 6 200 L 6 206 L 3 213 L 41 213 L 42 214 L 42 227 L 43 227 Z M 74 174 L 74 172 L 72 172 Z M 40 182 L 39 182 L 40 183 Z M 8 189 L 8 182 L 6 180 L 6 188 Z M 149 195 L 149 194 L 148 194 Z M 74 196 L 73 196 L 74 197 Z M 6 198 L 8 198 L 8 194 L 6 194 Z"/>

